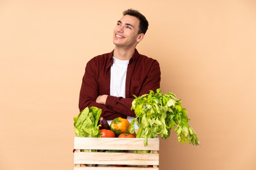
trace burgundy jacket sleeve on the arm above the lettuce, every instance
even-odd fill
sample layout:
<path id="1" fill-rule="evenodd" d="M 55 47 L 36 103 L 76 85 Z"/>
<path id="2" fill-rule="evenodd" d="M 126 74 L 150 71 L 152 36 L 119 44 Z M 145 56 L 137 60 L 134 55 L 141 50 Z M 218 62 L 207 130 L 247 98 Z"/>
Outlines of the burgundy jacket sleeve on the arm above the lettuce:
<path id="1" fill-rule="evenodd" d="M 106 105 L 95 102 L 99 96 L 99 85 L 97 82 L 97 75 L 94 70 L 94 63 L 90 60 L 85 67 L 85 74 L 83 76 L 80 95 L 79 95 L 79 110 L 82 111 L 85 107 L 98 107 L 101 109 L 101 116 L 106 120 L 122 117 L 125 115 L 118 113 L 112 109 L 107 108 Z"/>

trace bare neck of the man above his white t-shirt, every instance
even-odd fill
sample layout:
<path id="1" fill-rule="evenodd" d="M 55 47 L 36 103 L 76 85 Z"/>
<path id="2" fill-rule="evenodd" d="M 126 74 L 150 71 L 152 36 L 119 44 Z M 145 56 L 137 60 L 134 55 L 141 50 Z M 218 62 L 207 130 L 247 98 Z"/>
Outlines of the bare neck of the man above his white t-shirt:
<path id="1" fill-rule="evenodd" d="M 125 49 L 125 48 L 120 48 L 115 46 L 114 49 L 114 57 L 119 59 L 119 60 L 129 60 L 130 58 L 132 58 L 132 55 L 135 52 L 135 48 L 129 48 L 129 49 Z"/>

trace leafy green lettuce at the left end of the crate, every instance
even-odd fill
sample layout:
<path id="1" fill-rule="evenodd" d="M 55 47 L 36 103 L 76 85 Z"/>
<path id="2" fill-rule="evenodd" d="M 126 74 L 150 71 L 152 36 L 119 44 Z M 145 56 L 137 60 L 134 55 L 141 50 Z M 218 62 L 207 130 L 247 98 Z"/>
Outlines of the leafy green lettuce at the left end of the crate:
<path id="1" fill-rule="evenodd" d="M 101 116 L 101 109 L 97 107 L 86 107 L 78 116 L 74 117 L 74 130 L 77 137 L 101 137 L 98 121 Z M 81 152 L 97 152 L 97 150 L 85 150 Z M 95 166 L 95 165 L 87 165 Z"/>

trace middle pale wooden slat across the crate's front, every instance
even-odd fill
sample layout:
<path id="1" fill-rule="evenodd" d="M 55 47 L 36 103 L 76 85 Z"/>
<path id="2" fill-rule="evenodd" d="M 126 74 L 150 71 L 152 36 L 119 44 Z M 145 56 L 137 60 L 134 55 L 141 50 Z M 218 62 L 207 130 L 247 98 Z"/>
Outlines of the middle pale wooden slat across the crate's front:
<path id="1" fill-rule="evenodd" d="M 112 165 L 159 165 L 159 154 L 75 152 L 74 163 Z"/>

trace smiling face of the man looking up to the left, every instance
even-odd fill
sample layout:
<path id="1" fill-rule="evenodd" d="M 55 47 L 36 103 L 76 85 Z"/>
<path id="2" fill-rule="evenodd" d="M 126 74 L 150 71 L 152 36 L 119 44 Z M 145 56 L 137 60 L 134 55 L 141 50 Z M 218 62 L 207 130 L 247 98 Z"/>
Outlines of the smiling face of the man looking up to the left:
<path id="1" fill-rule="evenodd" d="M 139 19 L 131 15 L 124 15 L 114 29 L 113 43 L 119 47 L 136 46 L 139 41 Z"/>

